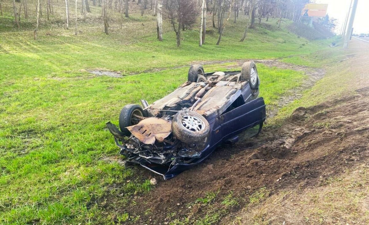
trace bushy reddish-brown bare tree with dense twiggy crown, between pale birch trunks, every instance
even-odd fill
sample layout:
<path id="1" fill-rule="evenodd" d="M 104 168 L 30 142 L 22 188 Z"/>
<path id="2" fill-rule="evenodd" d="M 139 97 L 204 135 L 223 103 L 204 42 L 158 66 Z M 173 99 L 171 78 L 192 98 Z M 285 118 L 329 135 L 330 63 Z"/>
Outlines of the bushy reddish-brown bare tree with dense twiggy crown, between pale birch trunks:
<path id="1" fill-rule="evenodd" d="M 177 47 L 181 42 L 182 25 L 196 23 L 198 10 L 194 0 L 165 0 L 165 16 L 170 20 L 176 33 Z"/>

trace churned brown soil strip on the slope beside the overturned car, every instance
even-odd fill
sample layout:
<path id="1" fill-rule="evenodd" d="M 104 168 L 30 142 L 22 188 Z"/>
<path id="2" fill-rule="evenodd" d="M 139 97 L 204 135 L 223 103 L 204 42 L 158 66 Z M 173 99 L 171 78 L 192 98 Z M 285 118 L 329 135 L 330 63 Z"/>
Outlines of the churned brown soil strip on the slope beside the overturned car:
<path id="1" fill-rule="evenodd" d="M 338 175 L 369 156 L 369 90 L 357 92 L 352 97 L 298 108 L 282 127 L 264 129 L 249 142 L 220 147 L 206 162 L 169 181 L 157 176 L 154 190 L 119 211 L 140 215 L 132 224 L 165 224 L 189 215 L 206 215 L 198 208 L 194 214 L 188 204 L 208 192 L 218 193 L 215 202 L 230 191 L 248 199 L 262 187 L 273 194 L 281 188 L 307 187 Z M 144 176 L 150 179 L 155 175 L 145 172 Z M 241 201 L 233 210 L 246 204 L 248 200 Z M 151 213 L 145 215 L 148 209 Z M 175 214 L 168 216 L 170 212 Z"/>

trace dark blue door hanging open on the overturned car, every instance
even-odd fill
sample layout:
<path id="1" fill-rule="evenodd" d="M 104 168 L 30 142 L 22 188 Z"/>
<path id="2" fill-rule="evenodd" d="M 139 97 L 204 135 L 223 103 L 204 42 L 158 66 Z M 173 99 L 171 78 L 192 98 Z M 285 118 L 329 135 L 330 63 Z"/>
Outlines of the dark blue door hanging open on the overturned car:
<path id="1" fill-rule="evenodd" d="M 221 133 L 223 139 L 252 128 L 265 121 L 266 111 L 264 99 L 258 98 L 220 115 Z"/>

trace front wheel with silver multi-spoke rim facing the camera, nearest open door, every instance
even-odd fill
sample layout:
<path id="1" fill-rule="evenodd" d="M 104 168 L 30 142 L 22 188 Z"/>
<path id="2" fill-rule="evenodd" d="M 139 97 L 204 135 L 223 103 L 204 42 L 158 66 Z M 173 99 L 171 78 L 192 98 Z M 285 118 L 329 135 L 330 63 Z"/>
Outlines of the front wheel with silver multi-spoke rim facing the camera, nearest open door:
<path id="1" fill-rule="evenodd" d="M 187 118 L 187 123 L 191 123 L 191 120 L 195 122 L 194 125 L 198 129 L 189 127 L 185 125 L 185 120 Z M 190 119 L 192 118 L 192 119 Z M 190 121 L 189 121 L 190 119 Z M 197 122 L 196 122 L 197 121 Z M 179 111 L 174 115 L 172 120 L 172 132 L 173 135 L 187 144 L 199 143 L 206 139 L 210 132 L 209 122 L 200 114 L 194 111 Z"/>

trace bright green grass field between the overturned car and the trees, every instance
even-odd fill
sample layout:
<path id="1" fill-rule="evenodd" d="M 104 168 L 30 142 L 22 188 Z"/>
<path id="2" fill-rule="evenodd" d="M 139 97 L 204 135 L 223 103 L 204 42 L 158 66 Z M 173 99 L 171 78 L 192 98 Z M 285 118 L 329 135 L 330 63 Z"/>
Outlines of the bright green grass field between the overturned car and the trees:
<path id="1" fill-rule="evenodd" d="M 274 20 L 269 22 L 274 31 L 259 27 L 241 43 L 245 24 L 241 18 L 229 24 L 220 46 L 215 46 L 213 34 L 207 36 L 204 47 L 198 47 L 195 29 L 183 32 L 182 46 L 176 48 L 168 25 L 164 41 L 156 41 L 150 16 L 131 15 L 123 31 L 112 24 L 112 34 L 107 36 L 101 23 L 93 22 L 99 8 L 92 8 L 88 22 L 79 24 L 79 35 L 44 22 L 47 29 L 40 30 L 37 41 L 32 39 L 31 20 L 23 20 L 25 29 L 16 31 L 8 26 L 9 13 L 0 17 L 1 224 L 38 220 L 41 224 L 108 224 L 117 215 L 103 212 L 96 199 L 111 194 L 119 199 L 114 204 L 122 207 L 133 194 L 149 191 L 149 182 L 135 176 L 135 171 L 100 160 L 117 153 L 104 122 L 117 122 L 124 104 L 141 98 L 152 102 L 169 93 L 186 80 L 187 68 L 143 71 L 199 60 L 280 58 L 325 46 L 277 29 Z M 262 95 L 270 104 L 303 79 L 295 71 L 258 66 Z M 141 74 L 95 77 L 85 71 L 91 68 Z"/>

